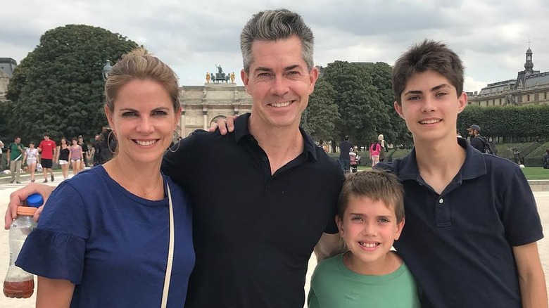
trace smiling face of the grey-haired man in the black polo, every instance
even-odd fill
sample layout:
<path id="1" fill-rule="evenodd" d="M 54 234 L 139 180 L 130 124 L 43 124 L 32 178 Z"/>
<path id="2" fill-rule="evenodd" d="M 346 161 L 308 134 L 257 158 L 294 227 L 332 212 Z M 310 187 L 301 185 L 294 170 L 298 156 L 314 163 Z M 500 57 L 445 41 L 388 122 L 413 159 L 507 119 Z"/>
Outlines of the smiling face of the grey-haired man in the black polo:
<path id="1" fill-rule="evenodd" d="M 315 89 L 317 68 L 310 72 L 297 37 L 254 41 L 249 74 L 241 71 L 246 92 L 252 96 L 251 125 L 298 127 Z"/>

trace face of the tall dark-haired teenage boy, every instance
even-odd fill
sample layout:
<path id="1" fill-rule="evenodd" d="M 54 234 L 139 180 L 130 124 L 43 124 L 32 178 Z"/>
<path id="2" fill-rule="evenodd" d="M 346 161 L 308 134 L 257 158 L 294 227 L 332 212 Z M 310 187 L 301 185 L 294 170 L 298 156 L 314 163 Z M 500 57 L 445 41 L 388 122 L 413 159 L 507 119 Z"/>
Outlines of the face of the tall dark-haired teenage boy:
<path id="1" fill-rule="evenodd" d="M 467 94 L 458 96 L 446 77 L 431 70 L 415 73 L 406 82 L 400 101 L 401 105 L 394 103 L 395 110 L 405 120 L 415 143 L 455 142 L 457 114 L 465 109 Z"/>

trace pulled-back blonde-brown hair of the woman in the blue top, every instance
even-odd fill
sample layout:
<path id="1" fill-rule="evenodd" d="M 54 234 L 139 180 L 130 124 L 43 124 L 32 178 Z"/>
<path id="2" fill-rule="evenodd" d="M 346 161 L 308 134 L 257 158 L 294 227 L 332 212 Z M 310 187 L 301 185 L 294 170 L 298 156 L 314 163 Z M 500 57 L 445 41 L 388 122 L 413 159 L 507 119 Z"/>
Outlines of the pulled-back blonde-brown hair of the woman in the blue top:
<path id="1" fill-rule="evenodd" d="M 134 79 L 150 79 L 161 84 L 173 103 L 174 110 L 179 109 L 179 85 L 175 72 L 160 59 L 147 53 L 144 48 L 134 49 L 122 56 L 113 66 L 105 82 L 107 107 L 113 111 L 114 102 L 120 88 Z"/>

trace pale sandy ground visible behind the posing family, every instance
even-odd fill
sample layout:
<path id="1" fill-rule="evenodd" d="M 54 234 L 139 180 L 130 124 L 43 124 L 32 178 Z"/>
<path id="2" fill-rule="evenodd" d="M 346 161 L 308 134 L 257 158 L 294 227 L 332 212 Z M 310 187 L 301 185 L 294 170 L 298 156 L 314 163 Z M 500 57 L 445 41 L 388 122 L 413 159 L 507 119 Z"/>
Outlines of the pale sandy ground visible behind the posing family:
<path id="1" fill-rule="evenodd" d="M 60 174 L 61 176 L 61 174 Z M 57 178 L 56 174 L 56 178 Z M 60 177 L 61 178 L 61 177 Z M 23 184 L 0 184 L 0 217 L 4 217 L 6 207 L 8 205 L 9 195 L 16 189 L 23 187 L 27 181 L 23 181 Z M 50 185 L 56 185 L 59 181 L 53 182 Z M 546 236 L 549 238 L 549 191 L 536 191 L 534 192 L 536 202 L 538 203 L 538 210 L 543 223 L 543 229 L 546 231 Z M 539 251 L 541 255 L 541 262 L 545 271 L 545 279 L 549 281 L 549 239 L 544 238 L 539 244 Z M 8 269 L 9 262 L 9 247 L 8 247 L 8 231 L 0 229 L 0 279 L 4 279 L 6 271 Z M 311 258 L 309 261 L 309 271 L 307 275 L 307 283 L 305 284 L 305 294 L 308 293 L 310 274 L 312 274 L 315 268 L 315 259 Z M 0 294 L 0 307 L 10 308 L 31 308 L 35 304 L 35 295 L 32 295 L 30 299 L 20 300 L 4 297 Z"/>

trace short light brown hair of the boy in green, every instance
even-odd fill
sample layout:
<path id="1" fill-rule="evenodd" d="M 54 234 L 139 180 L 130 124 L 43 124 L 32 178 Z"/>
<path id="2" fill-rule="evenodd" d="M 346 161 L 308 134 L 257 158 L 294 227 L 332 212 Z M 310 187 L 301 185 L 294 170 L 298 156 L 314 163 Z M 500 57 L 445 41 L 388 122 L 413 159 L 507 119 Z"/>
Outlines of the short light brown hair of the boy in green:
<path id="1" fill-rule="evenodd" d="M 379 169 L 357 172 L 349 175 L 339 194 L 337 215 L 343 219 L 351 196 L 381 200 L 393 206 L 397 222 L 404 218 L 404 190 L 398 179 L 389 172 Z"/>

